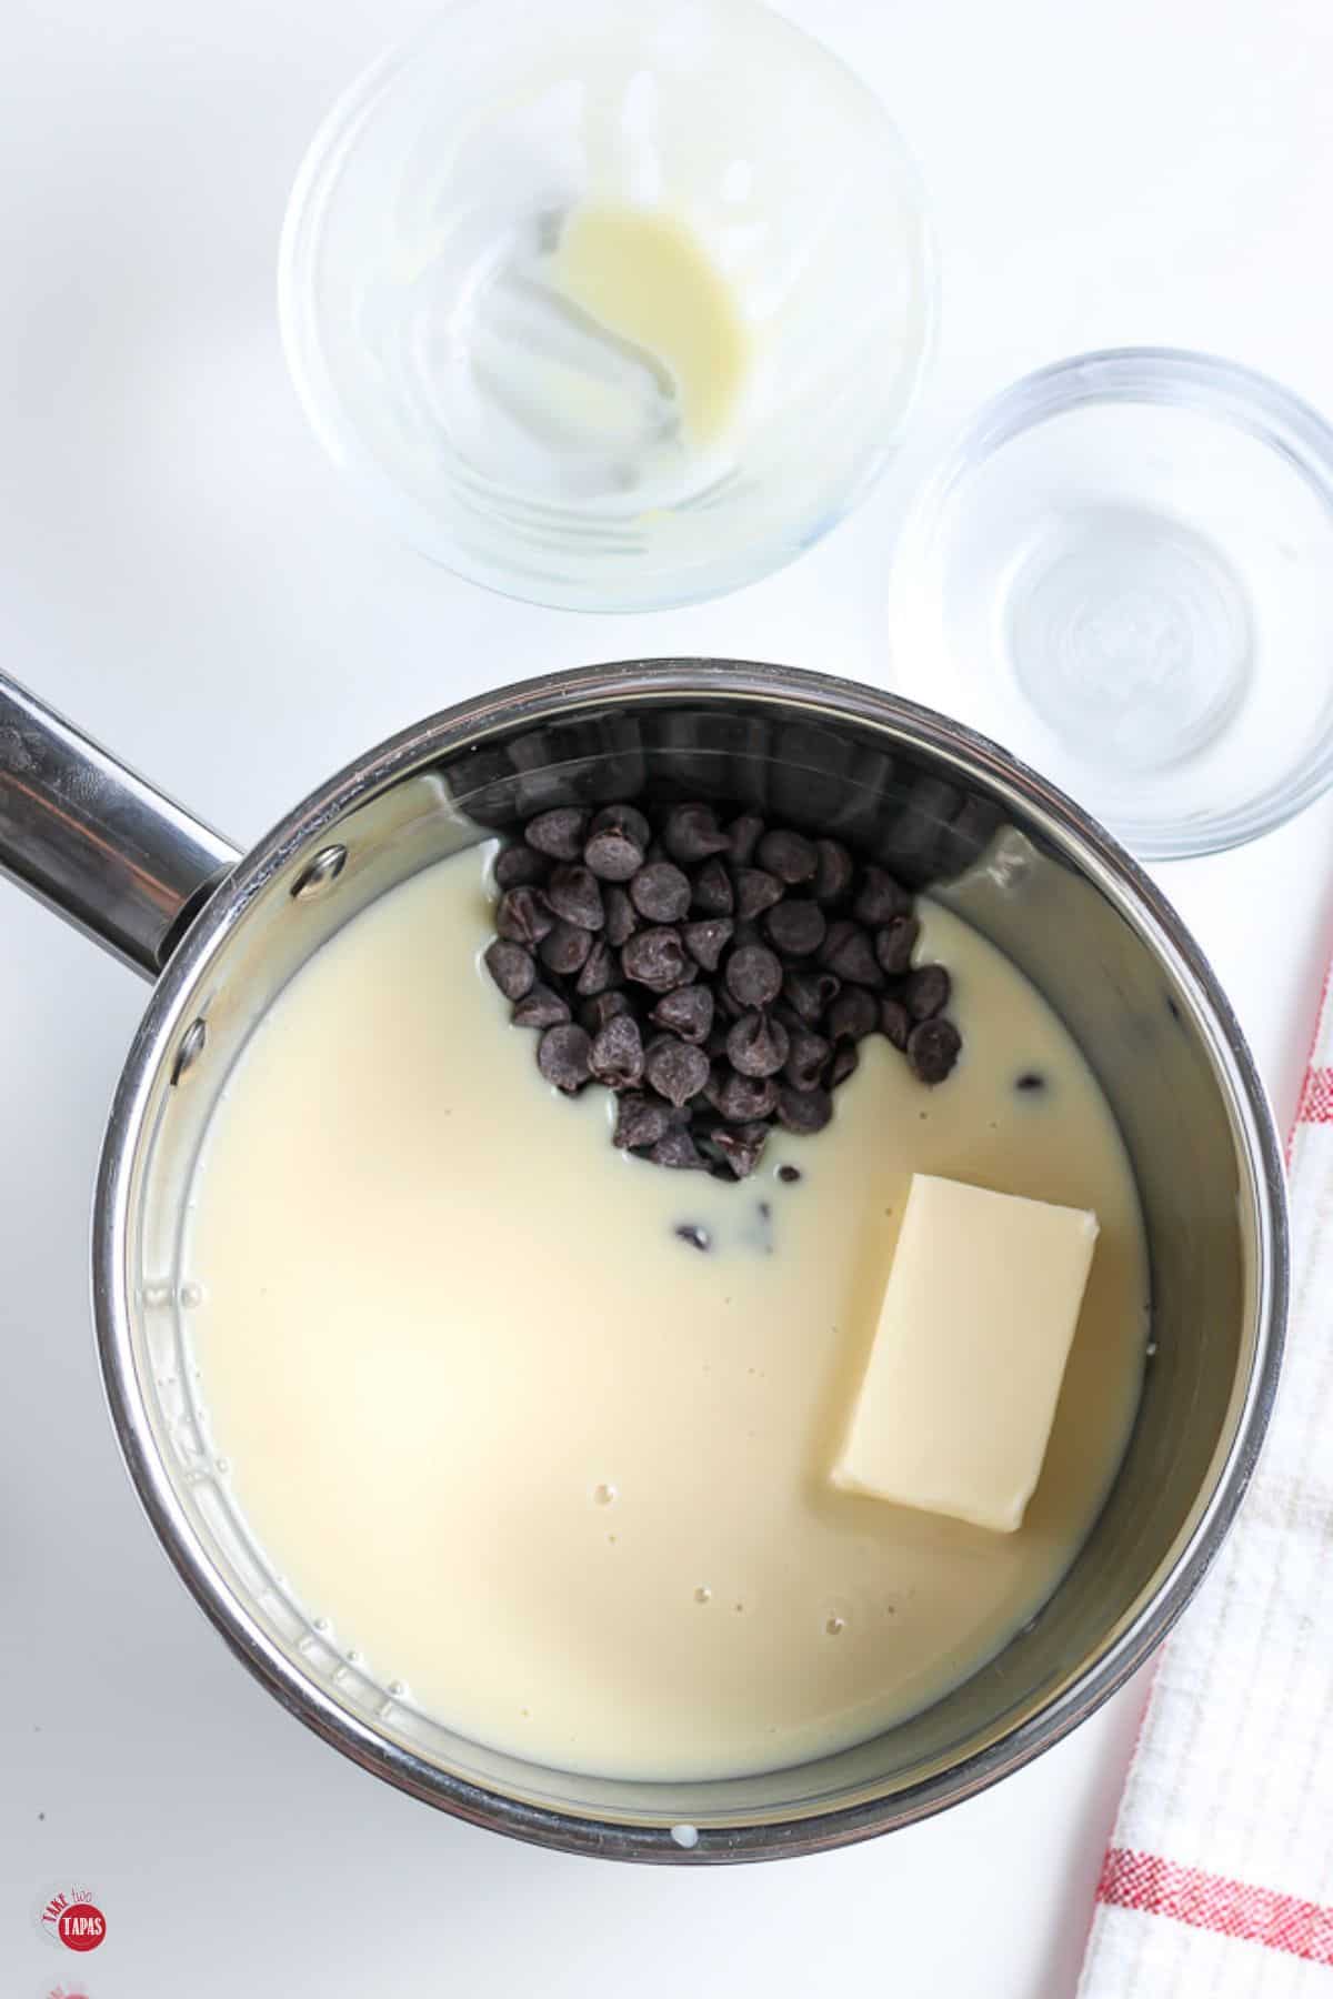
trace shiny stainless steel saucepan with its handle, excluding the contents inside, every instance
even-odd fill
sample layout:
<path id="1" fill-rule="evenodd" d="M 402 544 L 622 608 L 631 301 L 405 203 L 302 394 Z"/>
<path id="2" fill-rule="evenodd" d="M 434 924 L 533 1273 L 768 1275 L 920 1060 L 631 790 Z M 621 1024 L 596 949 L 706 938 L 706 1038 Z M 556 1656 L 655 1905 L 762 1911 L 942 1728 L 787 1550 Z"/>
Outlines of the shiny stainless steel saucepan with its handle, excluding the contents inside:
<path id="1" fill-rule="evenodd" d="M 873 1741 L 773 1775 L 681 1785 L 502 1755 L 338 1653 L 250 1541 L 204 1447 L 178 1263 L 210 1107 L 298 966 L 376 896 L 490 830 L 656 780 L 837 830 L 1015 960 L 1119 1117 L 1153 1281 L 1153 1357 L 1123 1469 L 1041 1615 Z M 1279 1149 L 1231 1009 L 1171 908 L 1077 806 L 993 744 L 845 680 L 632 660 L 434 716 L 240 856 L 0 682 L 0 866 L 156 982 L 106 1133 L 92 1245 L 130 1475 L 232 1649 L 378 1777 L 576 1853 L 697 1865 L 819 1851 L 1017 1769 L 1121 1685 L 1187 1603 L 1273 1401 L 1287 1299 Z"/>

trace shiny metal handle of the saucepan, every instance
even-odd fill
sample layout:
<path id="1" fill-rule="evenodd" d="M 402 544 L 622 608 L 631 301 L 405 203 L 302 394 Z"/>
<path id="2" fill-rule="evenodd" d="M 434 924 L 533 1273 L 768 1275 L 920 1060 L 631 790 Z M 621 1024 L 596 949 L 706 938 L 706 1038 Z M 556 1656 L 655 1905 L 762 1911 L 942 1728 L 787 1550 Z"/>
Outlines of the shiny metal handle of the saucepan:
<path id="1" fill-rule="evenodd" d="M 0 870 L 156 978 L 240 852 L 0 674 Z"/>

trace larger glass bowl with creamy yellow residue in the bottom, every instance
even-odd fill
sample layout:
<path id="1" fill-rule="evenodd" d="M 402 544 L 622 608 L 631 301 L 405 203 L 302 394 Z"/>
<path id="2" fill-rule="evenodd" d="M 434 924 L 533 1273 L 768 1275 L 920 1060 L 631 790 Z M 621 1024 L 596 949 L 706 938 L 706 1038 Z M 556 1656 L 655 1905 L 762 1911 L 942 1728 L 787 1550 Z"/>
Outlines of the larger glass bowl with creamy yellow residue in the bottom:
<path id="1" fill-rule="evenodd" d="M 755 360 L 711 450 L 552 290 L 580 200 L 683 222 L 737 298 Z M 879 100 L 757 0 L 460 0 L 318 132 L 280 316 L 324 448 L 404 540 L 624 612 L 753 582 L 847 512 L 915 402 L 935 272 Z M 666 436 L 648 472 L 636 424 Z"/>

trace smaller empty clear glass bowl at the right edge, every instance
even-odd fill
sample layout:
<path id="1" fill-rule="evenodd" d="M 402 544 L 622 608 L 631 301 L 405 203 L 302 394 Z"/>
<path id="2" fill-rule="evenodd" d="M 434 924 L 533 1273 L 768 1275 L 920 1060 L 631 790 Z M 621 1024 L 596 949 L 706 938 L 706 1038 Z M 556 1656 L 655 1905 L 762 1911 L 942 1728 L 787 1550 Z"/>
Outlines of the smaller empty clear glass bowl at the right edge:
<path id="1" fill-rule="evenodd" d="M 889 636 L 1139 858 L 1253 840 L 1333 778 L 1333 430 L 1205 354 L 1043 368 L 915 502 Z"/>

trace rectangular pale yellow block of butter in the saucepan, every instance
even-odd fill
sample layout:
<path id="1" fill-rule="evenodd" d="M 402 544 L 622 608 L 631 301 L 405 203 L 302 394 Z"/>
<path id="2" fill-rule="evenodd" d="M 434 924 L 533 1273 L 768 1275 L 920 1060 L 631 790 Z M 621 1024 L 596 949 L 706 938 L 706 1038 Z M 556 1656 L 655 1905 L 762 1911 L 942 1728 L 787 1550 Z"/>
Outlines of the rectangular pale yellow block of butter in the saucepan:
<path id="1" fill-rule="evenodd" d="M 913 1173 L 833 1483 L 1021 1527 L 1095 1241 L 1081 1207 Z"/>

